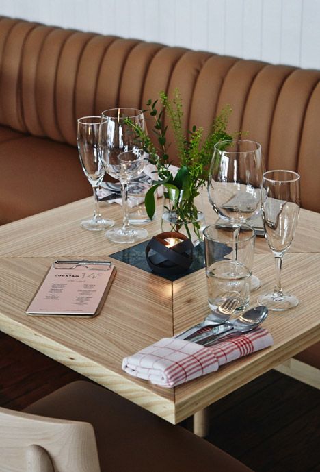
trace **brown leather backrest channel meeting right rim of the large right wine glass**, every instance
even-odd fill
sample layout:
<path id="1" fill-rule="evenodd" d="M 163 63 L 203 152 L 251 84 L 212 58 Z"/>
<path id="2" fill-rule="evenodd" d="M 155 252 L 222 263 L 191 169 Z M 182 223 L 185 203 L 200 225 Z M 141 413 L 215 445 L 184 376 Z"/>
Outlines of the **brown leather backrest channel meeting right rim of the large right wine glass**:
<path id="1" fill-rule="evenodd" d="M 248 139 L 260 142 L 266 166 L 274 110 L 286 77 L 292 71 L 290 66 L 265 64 L 256 75 L 245 103 L 242 130 L 248 132 Z"/>

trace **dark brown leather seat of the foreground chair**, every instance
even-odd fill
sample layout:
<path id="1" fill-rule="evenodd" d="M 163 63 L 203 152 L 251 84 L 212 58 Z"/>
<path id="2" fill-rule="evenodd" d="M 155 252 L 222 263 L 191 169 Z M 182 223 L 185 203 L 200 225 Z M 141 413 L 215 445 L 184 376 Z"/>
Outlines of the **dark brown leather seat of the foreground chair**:
<path id="1" fill-rule="evenodd" d="M 90 382 L 68 384 L 25 412 L 91 423 L 102 472 L 250 472 L 183 427 Z"/>

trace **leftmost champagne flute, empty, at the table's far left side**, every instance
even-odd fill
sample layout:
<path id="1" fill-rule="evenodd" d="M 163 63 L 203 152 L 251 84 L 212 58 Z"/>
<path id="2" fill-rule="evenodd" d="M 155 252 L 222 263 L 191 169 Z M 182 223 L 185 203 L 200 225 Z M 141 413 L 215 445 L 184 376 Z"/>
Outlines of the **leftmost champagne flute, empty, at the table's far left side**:
<path id="1" fill-rule="evenodd" d="M 105 169 L 98 151 L 101 116 L 83 116 L 77 120 L 77 144 L 79 158 L 85 177 L 94 192 L 94 214 L 92 219 L 81 221 L 81 227 L 89 231 L 101 231 L 114 225 L 111 219 L 103 219 L 99 209 L 98 190 L 105 175 Z"/>

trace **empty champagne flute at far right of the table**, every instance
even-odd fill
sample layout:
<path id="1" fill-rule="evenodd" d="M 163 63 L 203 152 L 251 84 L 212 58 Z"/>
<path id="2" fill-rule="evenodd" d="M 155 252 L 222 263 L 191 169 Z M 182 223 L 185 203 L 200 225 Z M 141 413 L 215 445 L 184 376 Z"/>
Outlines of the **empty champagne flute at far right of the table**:
<path id="1" fill-rule="evenodd" d="M 294 295 L 283 293 L 281 268 L 284 253 L 291 246 L 299 216 L 300 176 L 293 171 L 268 171 L 263 174 L 263 225 L 269 248 L 276 262 L 276 286 L 258 297 L 269 310 L 282 311 L 297 306 Z"/>

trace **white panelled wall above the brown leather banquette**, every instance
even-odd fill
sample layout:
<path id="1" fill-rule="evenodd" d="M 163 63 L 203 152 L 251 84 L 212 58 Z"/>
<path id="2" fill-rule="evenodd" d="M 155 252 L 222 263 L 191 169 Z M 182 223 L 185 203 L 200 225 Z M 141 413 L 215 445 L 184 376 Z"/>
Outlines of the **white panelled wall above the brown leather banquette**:
<path id="1" fill-rule="evenodd" d="M 320 0 L 0 0 L 0 15 L 320 69 Z"/>

